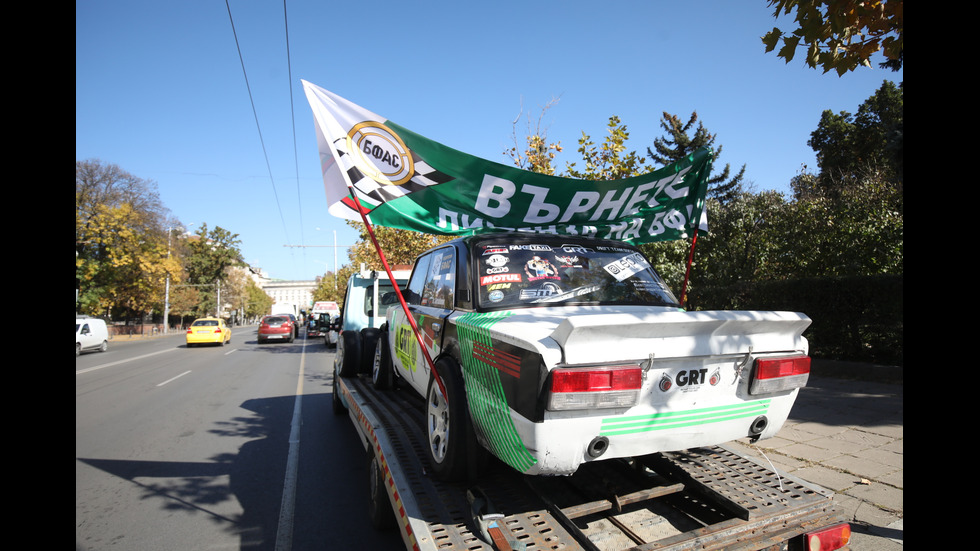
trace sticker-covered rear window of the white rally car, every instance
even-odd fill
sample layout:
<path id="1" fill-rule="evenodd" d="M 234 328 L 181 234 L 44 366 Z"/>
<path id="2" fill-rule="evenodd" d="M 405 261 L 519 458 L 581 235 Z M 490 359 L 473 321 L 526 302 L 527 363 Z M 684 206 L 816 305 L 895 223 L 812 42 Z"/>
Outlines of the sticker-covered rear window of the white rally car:
<path id="1" fill-rule="evenodd" d="M 599 244 L 481 244 L 484 309 L 572 304 L 677 306 L 677 299 L 636 249 Z"/>

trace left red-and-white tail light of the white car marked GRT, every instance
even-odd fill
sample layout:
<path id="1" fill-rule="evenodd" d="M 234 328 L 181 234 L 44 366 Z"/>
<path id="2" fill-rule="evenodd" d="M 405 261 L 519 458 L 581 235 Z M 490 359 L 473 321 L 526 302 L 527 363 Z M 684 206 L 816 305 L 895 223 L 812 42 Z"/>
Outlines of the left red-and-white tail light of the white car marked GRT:
<path id="1" fill-rule="evenodd" d="M 560 367 L 551 372 L 548 409 L 631 407 L 642 384 L 639 366 Z"/>

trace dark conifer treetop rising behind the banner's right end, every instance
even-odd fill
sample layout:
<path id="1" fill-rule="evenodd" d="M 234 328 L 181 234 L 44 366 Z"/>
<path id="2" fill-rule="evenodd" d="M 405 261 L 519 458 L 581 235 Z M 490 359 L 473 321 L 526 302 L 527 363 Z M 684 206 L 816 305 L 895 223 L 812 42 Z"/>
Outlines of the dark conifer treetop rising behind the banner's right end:
<path id="1" fill-rule="evenodd" d="M 688 134 L 694 128 L 694 123 L 697 123 L 698 126 L 694 131 L 694 136 L 690 136 Z M 714 148 L 717 139 L 715 134 L 709 133 L 704 124 L 698 121 L 697 111 L 691 113 L 691 117 L 683 124 L 680 117 L 665 111 L 660 119 L 660 127 L 664 129 L 667 135 L 653 141 L 654 149 L 648 147 L 647 156 L 661 166 L 675 163 L 702 147 Z M 721 150 L 721 146 L 714 149 L 715 160 L 721 156 Z M 742 165 L 741 170 L 735 176 L 729 178 L 730 174 L 731 166 L 726 164 L 721 174 L 708 179 L 708 196 L 717 199 L 721 204 L 727 203 L 742 192 L 745 165 Z"/>

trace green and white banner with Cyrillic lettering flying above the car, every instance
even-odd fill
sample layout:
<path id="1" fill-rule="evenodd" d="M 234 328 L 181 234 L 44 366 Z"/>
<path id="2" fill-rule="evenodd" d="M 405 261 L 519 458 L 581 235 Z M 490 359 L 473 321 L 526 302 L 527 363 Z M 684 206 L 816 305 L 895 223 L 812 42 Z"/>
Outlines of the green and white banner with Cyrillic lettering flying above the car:
<path id="1" fill-rule="evenodd" d="M 456 151 L 303 81 L 330 214 L 439 235 L 588 235 L 633 244 L 707 231 L 712 153 L 622 180 L 537 174 Z"/>

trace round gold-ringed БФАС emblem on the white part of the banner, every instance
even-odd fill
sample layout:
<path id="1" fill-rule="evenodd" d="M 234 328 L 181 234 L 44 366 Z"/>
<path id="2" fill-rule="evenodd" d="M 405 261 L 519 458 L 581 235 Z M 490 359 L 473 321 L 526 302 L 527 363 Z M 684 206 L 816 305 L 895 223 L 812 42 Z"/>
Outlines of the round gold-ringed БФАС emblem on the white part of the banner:
<path id="1" fill-rule="evenodd" d="M 405 142 L 379 122 L 365 121 L 351 128 L 347 149 L 357 168 L 379 184 L 399 186 L 415 173 Z"/>

